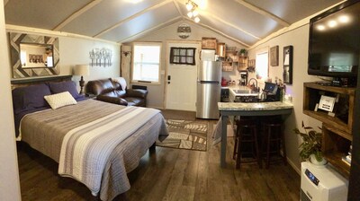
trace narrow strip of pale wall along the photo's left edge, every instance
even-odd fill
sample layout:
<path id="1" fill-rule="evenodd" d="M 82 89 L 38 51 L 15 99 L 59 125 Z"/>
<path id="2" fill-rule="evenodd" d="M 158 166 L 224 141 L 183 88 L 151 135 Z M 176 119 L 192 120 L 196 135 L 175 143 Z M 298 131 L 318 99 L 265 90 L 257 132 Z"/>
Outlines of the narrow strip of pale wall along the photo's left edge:
<path id="1" fill-rule="evenodd" d="M 13 103 L 10 77 L 11 66 L 4 25 L 4 1 L 0 1 L 0 200 L 22 200 L 20 196 L 19 170 L 17 164 Z"/>

